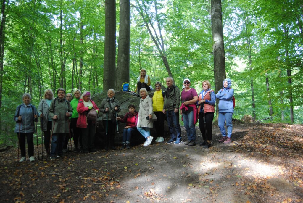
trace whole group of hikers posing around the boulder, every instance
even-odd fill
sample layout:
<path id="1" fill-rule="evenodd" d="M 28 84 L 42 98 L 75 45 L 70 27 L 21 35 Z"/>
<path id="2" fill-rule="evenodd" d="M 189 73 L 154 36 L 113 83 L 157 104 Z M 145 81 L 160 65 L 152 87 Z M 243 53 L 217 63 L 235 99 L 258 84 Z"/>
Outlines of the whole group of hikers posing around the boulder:
<path id="1" fill-rule="evenodd" d="M 190 84 L 190 79 L 184 79 L 181 105 L 180 89 L 174 85 L 171 77 L 166 78 L 167 88 L 165 88 L 165 91 L 162 91 L 161 82 L 156 82 L 156 91 L 150 97 L 148 95 L 148 90 L 152 90 L 150 78 L 146 75 L 146 71 L 142 69 L 137 83 L 137 91 L 141 97 L 139 111 L 136 111 L 135 105 L 130 104 L 128 105 L 128 112 L 123 118 L 118 117 L 117 114 L 121 111 L 121 108 L 118 99 L 115 98 L 114 89 L 108 90 L 107 97 L 102 100 L 100 108 L 92 101 L 90 92 L 81 93 L 79 89 L 75 90 L 72 95 L 71 93 L 66 94 L 65 89 L 59 88 L 56 98 L 52 90 L 47 89 L 38 109 L 31 104 L 31 95 L 25 93 L 22 96 L 23 104 L 16 108 L 14 115 L 15 132 L 18 135 L 18 145 L 21 149 L 19 162 L 26 160 L 25 138 L 28 144 L 29 160 L 35 161 L 33 134 L 35 133 L 35 122 L 38 121 L 38 117 L 41 119 L 41 128 L 44 133 L 44 146 L 51 159 L 63 156 L 63 152 L 67 151 L 68 141 L 72 137 L 75 151 L 95 152 L 96 119 L 88 116 L 91 111 L 95 111 L 96 114 L 99 111 L 103 113 L 105 150 L 115 149 L 115 128 L 117 127 L 118 130 L 118 121 L 125 123 L 122 136 L 123 149 L 130 148 L 131 137 L 137 132 L 140 132 L 145 138 L 143 146 L 150 145 L 154 138 L 151 136 L 153 125 L 155 125 L 157 131 L 155 141 L 162 142 L 165 117 L 170 131 L 170 139 L 167 143 L 180 144 L 182 140 L 179 115 L 182 116 L 187 133 L 187 141 L 184 144 L 188 146 L 196 145 L 195 124 L 198 122 L 204 140 L 200 143 L 200 146 L 210 148 L 216 98 L 219 99 L 218 126 L 222 134 L 219 142 L 230 143 L 231 120 L 234 111 L 232 100 L 234 90 L 230 88 L 231 80 L 225 79 L 223 89 L 217 94 L 211 90 L 211 84 L 207 80 L 202 82 L 202 91 L 199 95 L 194 88 L 190 87 Z M 225 121 L 227 133 L 224 127 Z"/>

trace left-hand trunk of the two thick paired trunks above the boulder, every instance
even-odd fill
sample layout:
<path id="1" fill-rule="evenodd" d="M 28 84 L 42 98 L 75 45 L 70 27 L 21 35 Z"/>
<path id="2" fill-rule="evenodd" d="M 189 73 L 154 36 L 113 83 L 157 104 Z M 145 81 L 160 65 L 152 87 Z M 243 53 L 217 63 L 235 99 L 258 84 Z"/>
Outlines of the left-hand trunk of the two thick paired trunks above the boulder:
<path id="1" fill-rule="evenodd" d="M 103 91 L 115 88 L 116 63 L 116 4 L 115 1 L 105 0 L 105 42 Z"/>

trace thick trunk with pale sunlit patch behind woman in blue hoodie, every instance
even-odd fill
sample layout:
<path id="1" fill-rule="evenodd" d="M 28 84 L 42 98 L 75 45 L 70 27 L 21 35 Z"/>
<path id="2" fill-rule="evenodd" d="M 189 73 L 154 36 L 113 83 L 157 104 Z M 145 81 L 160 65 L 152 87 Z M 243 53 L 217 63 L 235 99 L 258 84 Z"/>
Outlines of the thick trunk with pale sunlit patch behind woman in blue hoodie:
<path id="1" fill-rule="evenodd" d="M 215 92 L 222 89 L 225 75 L 225 52 L 222 27 L 221 0 L 211 0 L 211 32 L 213 39 Z M 216 112 L 218 115 L 218 99 L 216 100 Z M 217 120 L 218 116 L 216 117 Z"/>

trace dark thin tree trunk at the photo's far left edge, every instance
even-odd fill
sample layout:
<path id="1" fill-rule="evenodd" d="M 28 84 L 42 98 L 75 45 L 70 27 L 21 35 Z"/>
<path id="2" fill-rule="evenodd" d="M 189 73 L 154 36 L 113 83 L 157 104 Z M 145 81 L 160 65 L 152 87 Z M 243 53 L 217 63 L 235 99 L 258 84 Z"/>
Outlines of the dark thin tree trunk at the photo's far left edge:
<path id="1" fill-rule="evenodd" d="M 2 106 L 2 85 L 3 85 L 3 55 L 5 41 L 5 0 L 1 5 L 1 25 L 0 25 L 0 108 Z"/>

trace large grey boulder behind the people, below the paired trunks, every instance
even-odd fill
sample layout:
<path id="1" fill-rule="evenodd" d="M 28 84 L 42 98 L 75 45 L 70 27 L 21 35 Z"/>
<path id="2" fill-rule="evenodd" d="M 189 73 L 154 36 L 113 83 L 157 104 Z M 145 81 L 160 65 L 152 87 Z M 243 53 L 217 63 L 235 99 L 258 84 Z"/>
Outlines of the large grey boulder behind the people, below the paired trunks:
<path id="1" fill-rule="evenodd" d="M 153 95 L 153 92 L 148 92 L 148 95 L 151 97 Z M 107 97 L 107 92 L 101 92 L 95 95 L 92 95 L 92 100 L 96 103 L 98 108 L 100 108 L 102 100 Z M 118 99 L 120 103 L 121 111 L 118 113 L 118 117 L 123 118 L 124 115 L 128 112 L 128 105 L 133 104 L 135 105 L 136 111 L 139 111 L 139 104 L 140 104 L 140 97 L 136 96 L 132 92 L 124 92 L 124 91 L 115 91 L 115 98 Z M 105 142 L 105 128 L 106 126 L 103 126 L 102 124 L 102 112 L 99 112 L 97 119 L 97 133 L 96 133 L 96 139 L 95 139 L 95 146 L 96 147 L 104 147 Z M 167 135 L 168 127 L 167 122 L 165 121 L 165 135 Z M 122 142 L 122 133 L 124 129 L 125 123 L 119 122 L 118 124 L 118 132 L 117 128 L 115 129 L 116 135 L 115 135 L 115 143 L 121 144 Z M 155 129 L 153 128 L 151 130 L 151 135 L 154 136 L 156 134 Z M 131 144 L 140 144 L 145 141 L 145 138 L 138 132 L 135 136 L 132 136 Z"/>

